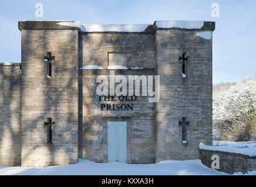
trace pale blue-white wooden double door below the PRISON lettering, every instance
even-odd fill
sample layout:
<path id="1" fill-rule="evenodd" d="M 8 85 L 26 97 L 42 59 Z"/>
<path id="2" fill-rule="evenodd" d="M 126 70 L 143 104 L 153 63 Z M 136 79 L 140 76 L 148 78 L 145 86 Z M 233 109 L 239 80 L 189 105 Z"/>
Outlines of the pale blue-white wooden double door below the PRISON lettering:
<path id="1" fill-rule="evenodd" d="M 126 163 L 126 122 L 107 122 L 107 161 Z"/>

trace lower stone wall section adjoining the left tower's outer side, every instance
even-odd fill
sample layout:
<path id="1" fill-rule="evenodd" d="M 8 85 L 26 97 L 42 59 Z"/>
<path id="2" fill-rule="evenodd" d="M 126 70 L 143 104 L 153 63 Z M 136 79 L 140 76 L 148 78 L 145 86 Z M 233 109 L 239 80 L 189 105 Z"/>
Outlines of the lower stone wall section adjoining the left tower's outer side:
<path id="1" fill-rule="evenodd" d="M 21 64 L 0 64 L 0 165 L 21 165 Z"/>

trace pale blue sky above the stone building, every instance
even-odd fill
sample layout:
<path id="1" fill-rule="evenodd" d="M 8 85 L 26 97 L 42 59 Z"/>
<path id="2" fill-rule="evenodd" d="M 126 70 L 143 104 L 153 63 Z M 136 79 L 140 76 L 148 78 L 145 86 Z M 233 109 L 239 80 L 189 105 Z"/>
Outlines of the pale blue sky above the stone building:
<path id="1" fill-rule="evenodd" d="M 43 4 L 43 18 L 35 4 Z M 211 4 L 220 17 L 211 16 Z M 240 81 L 256 72 L 256 1 L 1 1 L 0 61 L 21 61 L 19 20 L 80 20 L 82 23 L 153 23 L 154 20 L 208 20 L 213 33 L 213 83 Z"/>

